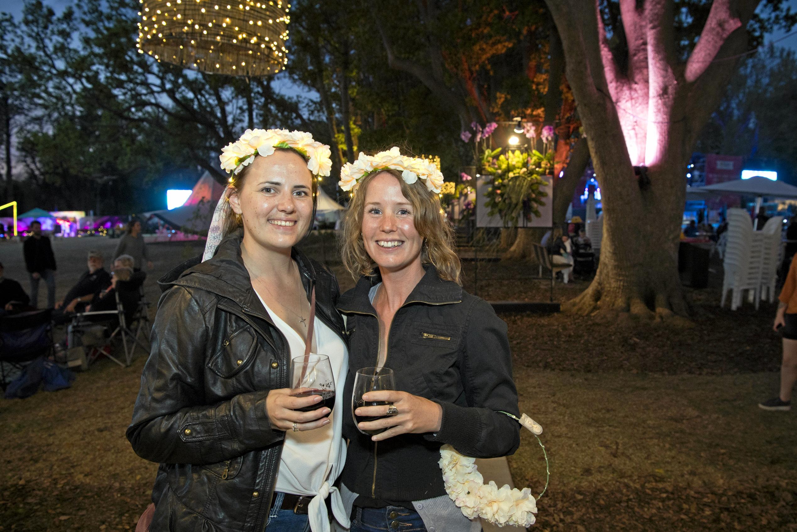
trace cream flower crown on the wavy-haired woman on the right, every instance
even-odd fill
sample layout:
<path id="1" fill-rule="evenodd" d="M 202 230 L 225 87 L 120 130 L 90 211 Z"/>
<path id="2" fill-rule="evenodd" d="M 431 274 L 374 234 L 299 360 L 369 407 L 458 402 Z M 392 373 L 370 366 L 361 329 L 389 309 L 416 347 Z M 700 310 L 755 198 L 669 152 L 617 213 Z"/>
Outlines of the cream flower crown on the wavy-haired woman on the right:
<path id="1" fill-rule="evenodd" d="M 366 175 L 385 168 L 400 171 L 402 179 L 407 184 L 415 183 L 418 178 L 426 179 L 427 189 L 435 194 L 439 194 L 442 190 L 443 175 L 434 163 L 419 157 L 402 156 L 395 146 L 387 152 L 379 152 L 375 156 L 367 156 L 360 152 L 354 163 L 346 163 L 340 169 L 338 185 L 344 191 L 352 190 Z"/>

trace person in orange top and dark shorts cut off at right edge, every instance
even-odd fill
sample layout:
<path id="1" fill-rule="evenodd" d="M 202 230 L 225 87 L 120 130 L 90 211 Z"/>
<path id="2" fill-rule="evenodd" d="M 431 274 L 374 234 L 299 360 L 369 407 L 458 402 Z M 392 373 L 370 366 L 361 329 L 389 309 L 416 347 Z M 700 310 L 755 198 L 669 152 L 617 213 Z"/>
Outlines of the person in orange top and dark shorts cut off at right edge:
<path id="1" fill-rule="evenodd" d="M 763 410 L 788 411 L 791 410 L 791 388 L 797 382 L 797 262 L 793 258 L 778 299 L 780 303 L 772 328 L 783 336 L 780 392 L 758 406 Z"/>

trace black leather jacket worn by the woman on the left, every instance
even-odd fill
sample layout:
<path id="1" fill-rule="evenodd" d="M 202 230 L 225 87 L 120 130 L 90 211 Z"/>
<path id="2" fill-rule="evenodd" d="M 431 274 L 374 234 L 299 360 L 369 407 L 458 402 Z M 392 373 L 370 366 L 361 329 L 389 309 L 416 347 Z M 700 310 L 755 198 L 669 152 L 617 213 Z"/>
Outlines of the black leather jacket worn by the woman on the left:
<path id="1" fill-rule="evenodd" d="M 304 290 L 316 286 L 316 316 L 344 338 L 335 276 L 296 250 L 293 258 Z M 160 463 L 152 532 L 262 532 L 285 438 L 265 397 L 289 386 L 290 348 L 252 288 L 240 231 L 197 262 L 160 280 L 127 435 L 137 455 Z"/>

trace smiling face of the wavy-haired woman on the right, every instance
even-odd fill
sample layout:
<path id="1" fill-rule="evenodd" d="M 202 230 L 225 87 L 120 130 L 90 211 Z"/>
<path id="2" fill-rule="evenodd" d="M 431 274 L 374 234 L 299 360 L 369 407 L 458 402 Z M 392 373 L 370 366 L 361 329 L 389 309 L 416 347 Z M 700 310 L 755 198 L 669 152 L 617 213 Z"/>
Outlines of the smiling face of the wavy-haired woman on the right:
<path id="1" fill-rule="evenodd" d="M 421 266 L 423 238 L 415 229 L 414 207 L 395 175 L 383 172 L 368 183 L 363 212 L 363 243 L 381 270 Z"/>

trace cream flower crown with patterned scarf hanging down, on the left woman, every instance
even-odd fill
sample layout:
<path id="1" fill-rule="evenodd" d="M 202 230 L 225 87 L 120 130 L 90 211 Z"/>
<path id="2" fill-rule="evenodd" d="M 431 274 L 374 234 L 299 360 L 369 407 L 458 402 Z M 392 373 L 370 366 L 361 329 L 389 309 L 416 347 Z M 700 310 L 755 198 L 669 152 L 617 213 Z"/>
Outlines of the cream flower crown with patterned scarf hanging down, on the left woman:
<path id="1" fill-rule="evenodd" d="M 328 176 L 332 170 L 332 152 L 329 146 L 313 140 L 312 135 L 303 131 L 289 132 L 287 129 L 247 129 L 241 138 L 222 148 L 219 160 L 222 170 L 230 172 L 230 181 L 233 175 L 238 175 L 248 164 L 252 164 L 255 156 L 268 157 L 277 148 L 293 148 L 304 156 L 308 170 L 312 175 Z M 207 231 L 207 242 L 202 261 L 213 257 L 216 248 L 224 238 L 225 222 L 232 209 L 228 199 L 234 187 L 227 187 L 218 200 L 213 212 L 213 220 Z"/>

